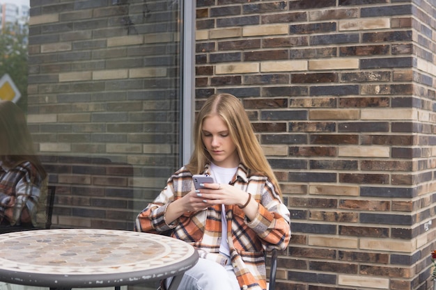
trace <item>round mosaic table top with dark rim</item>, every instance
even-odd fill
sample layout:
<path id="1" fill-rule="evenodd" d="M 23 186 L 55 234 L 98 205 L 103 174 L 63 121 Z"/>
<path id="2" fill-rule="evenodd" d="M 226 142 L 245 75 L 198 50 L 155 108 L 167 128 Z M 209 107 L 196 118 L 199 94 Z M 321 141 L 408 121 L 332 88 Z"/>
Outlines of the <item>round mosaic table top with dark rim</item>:
<path id="1" fill-rule="evenodd" d="M 184 273 L 194 248 L 158 234 L 40 229 L 0 234 L 0 281 L 42 287 L 139 284 Z"/>

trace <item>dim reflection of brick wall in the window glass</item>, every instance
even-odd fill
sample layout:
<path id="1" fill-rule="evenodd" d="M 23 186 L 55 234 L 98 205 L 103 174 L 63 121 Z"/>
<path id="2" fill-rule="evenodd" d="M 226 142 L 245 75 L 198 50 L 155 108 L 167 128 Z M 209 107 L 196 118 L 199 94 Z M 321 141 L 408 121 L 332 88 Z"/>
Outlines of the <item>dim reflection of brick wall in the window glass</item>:
<path id="1" fill-rule="evenodd" d="M 43 2 L 30 9 L 20 102 L 56 186 L 52 227 L 132 229 L 189 152 L 185 3 Z"/>

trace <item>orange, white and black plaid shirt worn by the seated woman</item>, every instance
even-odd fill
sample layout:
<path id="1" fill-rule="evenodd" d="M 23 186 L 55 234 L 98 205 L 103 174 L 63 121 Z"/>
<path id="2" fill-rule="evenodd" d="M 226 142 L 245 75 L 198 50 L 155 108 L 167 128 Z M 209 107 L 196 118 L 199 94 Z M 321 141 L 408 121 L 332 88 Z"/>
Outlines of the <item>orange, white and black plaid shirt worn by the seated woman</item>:
<path id="1" fill-rule="evenodd" d="M 206 166 L 204 173 L 209 172 Z M 247 220 L 238 206 L 226 206 L 228 245 L 231 262 L 238 282 L 243 289 L 265 289 L 264 250 L 284 250 L 290 239 L 290 213 L 274 191 L 269 179 L 250 175 L 242 164 L 231 184 L 251 193 L 259 202 L 255 220 Z M 221 239 L 221 205 L 207 210 L 186 212 L 171 225 L 165 222 L 168 204 L 194 190 L 191 173 L 180 168 L 167 182 L 166 187 L 153 203 L 148 204 L 137 216 L 135 230 L 166 234 L 193 245 L 200 257 L 226 264 L 226 257 L 219 254 Z M 246 285 L 246 286 L 245 286 Z"/>

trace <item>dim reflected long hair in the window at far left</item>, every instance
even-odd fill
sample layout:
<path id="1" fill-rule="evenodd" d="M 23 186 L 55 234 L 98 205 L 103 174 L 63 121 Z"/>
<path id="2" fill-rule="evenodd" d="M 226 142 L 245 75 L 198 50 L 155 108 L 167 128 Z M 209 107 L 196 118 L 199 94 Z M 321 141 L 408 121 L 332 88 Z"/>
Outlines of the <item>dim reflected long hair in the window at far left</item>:
<path id="1" fill-rule="evenodd" d="M 35 150 L 26 115 L 19 106 L 10 101 L 0 101 L 0 161 L 15 167 L 29 161 L 36 167 L 42 179 L 47 176 Z"/>

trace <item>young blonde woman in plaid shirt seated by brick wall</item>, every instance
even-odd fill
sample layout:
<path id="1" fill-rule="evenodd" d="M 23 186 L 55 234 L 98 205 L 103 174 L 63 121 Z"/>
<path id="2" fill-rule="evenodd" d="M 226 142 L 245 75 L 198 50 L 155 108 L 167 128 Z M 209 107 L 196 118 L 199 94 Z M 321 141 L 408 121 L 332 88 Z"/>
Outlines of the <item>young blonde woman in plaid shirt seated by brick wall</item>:
<path id="1" fill-rule="evenodd" d="M 141 211 L 135 230 L 170 234 L 198 250 L 201 258 L 179 289 L 265 289 L 264 251 L 287 248 L 290 213 L 241 102 L 229 94 L 209 97 L 194 143 L 189 164 Z M 214 182 L 195 190 L 196 174 Z"/>

